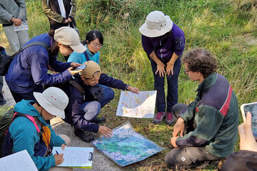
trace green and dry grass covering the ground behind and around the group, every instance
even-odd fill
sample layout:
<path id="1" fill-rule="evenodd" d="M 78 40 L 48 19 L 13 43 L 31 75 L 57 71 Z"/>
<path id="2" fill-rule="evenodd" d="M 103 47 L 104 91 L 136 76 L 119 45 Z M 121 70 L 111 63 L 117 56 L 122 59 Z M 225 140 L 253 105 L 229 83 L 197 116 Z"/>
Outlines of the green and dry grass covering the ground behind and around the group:
<path id="1" fill-rule="evenodd" d="M 26 2 L 30 38 L 49 31 L 49 21 L 42 12 L 40 1 Z M 102 31 L 104 43 L 100 51 L 100 66 L 104 73 L 140 90 L 154 90 L 154 77 L 141 46 L 138 28 L 149 12 L 161 10 L 184 31 L 185 51 L 202 47 L 217 57 L 217 72 L 230 81 L 238 98 L 239 109 L 241 104 L 254 102 L 257 97 L 256 4 L 256 0 L 77 0 L 76 21 L 81 39 L 90 29 Z M 1 45 L 8 48 L 3 30 L 0 31 Z M 61 56 L 59 58 L 63 60 Z M 197 86 L 198 83 L 190 81 L 181 72 L 179 102 L 191 103 Z M 130 120 L 138 133 L 165 147 L 157 155 L 125 168 L 167 170 L 164 155 L 171 150 L 173 127 L 168 127 L 164 122 L 154 125 L 149 119 L 115 116 L 120 91 L 115 90 L 115 93 L 114 100 L 101 111 L 107 118 L 106 125 L 113 129 Z M 239 150 L 238 143 L 235 150 Z"/>

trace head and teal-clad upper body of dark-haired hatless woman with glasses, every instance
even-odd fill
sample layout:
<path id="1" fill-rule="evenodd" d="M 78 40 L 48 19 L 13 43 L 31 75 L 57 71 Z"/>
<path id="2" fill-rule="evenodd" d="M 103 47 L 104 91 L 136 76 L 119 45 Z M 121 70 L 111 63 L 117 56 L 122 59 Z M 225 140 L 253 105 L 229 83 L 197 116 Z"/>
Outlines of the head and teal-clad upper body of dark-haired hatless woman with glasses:
<path id="1" fill-rule="evenodd" d="M 99 64 L 99 50 L 103 47 L 103 36 L 101 32 L 97 30 L 89 31 L 88 34 L 86 34 L 86 40 L 83 40 L 82 44 L 86 47 L 86 51 L 84 53 L 71 53 L 68 62 L 84 64 L 84 62 L 90 60 Z"/>

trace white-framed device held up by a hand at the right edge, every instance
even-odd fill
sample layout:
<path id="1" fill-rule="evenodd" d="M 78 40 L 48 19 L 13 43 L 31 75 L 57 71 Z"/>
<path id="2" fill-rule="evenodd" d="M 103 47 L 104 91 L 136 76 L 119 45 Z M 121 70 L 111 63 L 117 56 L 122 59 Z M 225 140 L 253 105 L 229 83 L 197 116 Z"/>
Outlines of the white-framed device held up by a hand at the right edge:
<path id="1" fill-rule="evenodd" d="M 244 122 L 247 115 L 247 111 L 249 111 L 252 114 L 252 133 L 254 134 L 254 137 L 257 137 L 257 102 L 246 103 L 241 105 L 241 112 Z"/>

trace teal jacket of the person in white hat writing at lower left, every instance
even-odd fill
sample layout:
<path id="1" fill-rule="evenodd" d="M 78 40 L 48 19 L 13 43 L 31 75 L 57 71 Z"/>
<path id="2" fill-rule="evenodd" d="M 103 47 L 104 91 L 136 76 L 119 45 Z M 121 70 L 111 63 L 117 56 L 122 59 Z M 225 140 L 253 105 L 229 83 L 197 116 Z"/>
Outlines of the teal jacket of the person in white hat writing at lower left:
<path id="1" fill-rule="evenodd" d="M 19 112 L 21 114 L 27 114 L 29 116 L 36 116 L 42 125 L 49 127 L 51 131 L 51 139 L 50 139 L 50 147 L 53 146 L 61 146 L 64 144 L 64 140 L 51 129 L 51 126 L 45 122 L 44 118 L 39 114 L 38 110 L 32 106 L 34 101 L 25 101 L 17 103 L 14 107 L 14 111 Z M 39 129 L 41 129 L 40 125 L 38 125 Z M 36 131 L 36 127 L 31 120 L 25 117 L 15 118 L 12 124 L 10 124 L 9 135 L 6 137 L 10 137 L 12 140 L 12 153 L 17 153 L 21 150 L 27 150 L 30 157 L 36 164 L 36 168 L 38 170 L 49 170 L 51 167 L 56 165 L 56 160 L 53 155 L 48 157 L 41 157 L 36 155 L 36 144 L 40 141 L 40 134 Z M 5 137 L 4 141 L 8 141 Z M 8 148 L 8 145 L 5 142 L 3 143 L 3 149 Z M 46 149 L 46 148 L 45 148 Z M 43 152 L 43 154 L 46 150 Z"/>

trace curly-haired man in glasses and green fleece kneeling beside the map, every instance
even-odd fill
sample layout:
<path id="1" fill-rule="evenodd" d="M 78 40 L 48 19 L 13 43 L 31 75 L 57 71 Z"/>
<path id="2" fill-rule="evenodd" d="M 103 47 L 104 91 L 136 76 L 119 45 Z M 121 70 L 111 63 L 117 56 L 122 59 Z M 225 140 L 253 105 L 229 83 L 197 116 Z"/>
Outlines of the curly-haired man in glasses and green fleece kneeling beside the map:
<path id="1" fill-rule="evenodd" d="M 171 169 L 200 169 L 233 153 L 238 103 L 228 80 L 216 73 L 217 62 L 209 51 L 195 48 L 181 61 L 184 73 L 199 86 L 195 101 L 190 105 L 178 103 L 172 109 L 174 148 L 164 161 Z"/>

